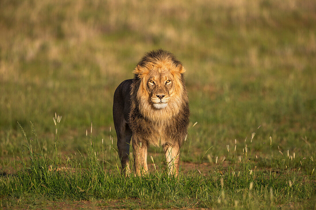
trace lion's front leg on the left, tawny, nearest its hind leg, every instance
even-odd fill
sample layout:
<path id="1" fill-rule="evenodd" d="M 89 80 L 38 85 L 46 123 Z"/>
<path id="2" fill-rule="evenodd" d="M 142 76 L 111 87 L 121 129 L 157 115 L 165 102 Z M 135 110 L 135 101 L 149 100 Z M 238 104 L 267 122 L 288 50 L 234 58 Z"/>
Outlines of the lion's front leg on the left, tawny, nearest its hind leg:
<path id="1" fill-rule="evenodd" d="M 136 175 L 147 174 L 147 144 L 142 144 L 137 137 L 133 137 L 133 155 Z"/>

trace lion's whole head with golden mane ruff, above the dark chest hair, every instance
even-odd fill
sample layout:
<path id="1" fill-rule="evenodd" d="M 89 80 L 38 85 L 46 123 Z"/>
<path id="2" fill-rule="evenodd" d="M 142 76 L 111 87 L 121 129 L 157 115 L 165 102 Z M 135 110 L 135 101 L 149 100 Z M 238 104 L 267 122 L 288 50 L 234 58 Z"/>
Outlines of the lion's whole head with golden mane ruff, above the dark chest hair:
<path id="1" fill-rule="evenodd" d="M 179 113 L 188 101 L 183 82 L 185 68 L 167 52 L 148 53 L 134 70 L 137 107 L 154 122 L 163 122 Z M 136 92 L 134 92 L 136 91 Z M 136 104 L 135 104 L 136 105 Z"/>

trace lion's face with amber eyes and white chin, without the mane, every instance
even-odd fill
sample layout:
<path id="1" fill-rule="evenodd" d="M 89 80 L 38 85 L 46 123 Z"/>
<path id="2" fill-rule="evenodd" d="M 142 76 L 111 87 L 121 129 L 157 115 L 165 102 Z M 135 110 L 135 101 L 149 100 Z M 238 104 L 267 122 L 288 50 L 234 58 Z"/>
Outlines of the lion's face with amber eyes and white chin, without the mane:
<path id="1" fill-rule="evenodd" d="M 166 108 L 174 91 L 173 75 L 167 69 L 153 69 L 148 74 L 146 90 L 155 108 Z"/>

